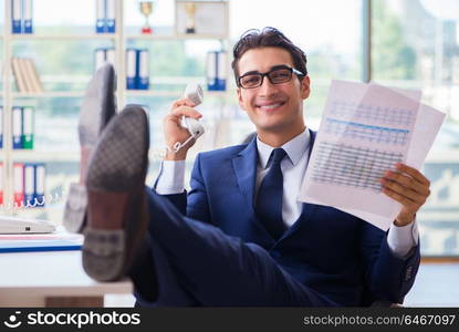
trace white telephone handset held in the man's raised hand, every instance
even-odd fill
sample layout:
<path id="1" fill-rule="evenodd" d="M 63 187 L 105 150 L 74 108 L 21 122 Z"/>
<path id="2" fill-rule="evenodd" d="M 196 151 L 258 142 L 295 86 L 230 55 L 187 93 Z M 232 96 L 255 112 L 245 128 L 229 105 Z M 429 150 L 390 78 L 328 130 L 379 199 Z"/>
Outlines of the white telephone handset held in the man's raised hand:
<path id="1" fill-rule="evenodd" d="M 202 87 L 197 83 L 189 83 L 185 89 L 184 96 L 189 98 L 195 104 L 195 106 L 198 106 L 200 103 L 202 103 L 204 98 Z M 176 142 L 173 148 L 167 147 L 169 151 L 175 153 L 177 153 L 182 146 L 187 145 L 191 139 L 198 139 L 205 132 L 202 125 L 196 118 L 184 116 L 181 118 L 181 123 L 185 125 L 191 136 L 184 143 Z"/>

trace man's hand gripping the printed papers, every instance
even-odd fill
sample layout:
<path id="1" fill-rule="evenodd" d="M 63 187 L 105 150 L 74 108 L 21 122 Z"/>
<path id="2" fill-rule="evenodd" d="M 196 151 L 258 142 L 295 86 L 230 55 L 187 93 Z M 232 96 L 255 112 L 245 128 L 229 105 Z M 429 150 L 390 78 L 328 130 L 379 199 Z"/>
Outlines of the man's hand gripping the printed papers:
<path id="1" fill-rule="evenodd" d="M 387 170 L 380 178 L 383 193 L 401 204 L 394 224 L 406 226 L 415 220 L 416 212 L 430 195 L 430 181 L 416 168 L 396 165 L 397 172 Z"/>

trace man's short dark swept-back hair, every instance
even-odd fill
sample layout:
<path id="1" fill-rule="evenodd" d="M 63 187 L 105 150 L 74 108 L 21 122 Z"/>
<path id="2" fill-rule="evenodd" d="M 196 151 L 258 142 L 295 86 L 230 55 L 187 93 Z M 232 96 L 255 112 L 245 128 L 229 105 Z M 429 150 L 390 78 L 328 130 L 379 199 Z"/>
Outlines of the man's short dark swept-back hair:
<path id="1" fill-rule="evenodd" d="M 295 69 L 304 75 L 307 75 L 306 54 L 299 46 L 294 45 L 281 31 L 272 27 L 265 27 L 262 31 L 258 29 L 246 31 L 232 49 L 233 60 L 231 66 L 234 72 L 237 85 L 239 85 L 239 60 L 247 51 L 258 48 L 284 49 L 292 56 Z"/>

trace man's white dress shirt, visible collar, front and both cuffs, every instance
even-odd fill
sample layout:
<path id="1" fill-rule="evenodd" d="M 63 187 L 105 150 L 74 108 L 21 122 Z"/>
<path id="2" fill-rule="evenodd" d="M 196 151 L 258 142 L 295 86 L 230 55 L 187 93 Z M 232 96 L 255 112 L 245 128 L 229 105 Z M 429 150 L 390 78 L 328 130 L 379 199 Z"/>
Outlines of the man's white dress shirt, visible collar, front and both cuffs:
<path id="1" fill-rule="evenodd" d="M 305 129 L 300 135 L 282 145 L 286 156 L 281 162 L 283 175 L 282 219 L 288 227 L 300 217 L 303 203 L 298 200 L 301 180 L 306 172 L 310 151 L 310 132 Z M 255 195 L 263 177 L 269 170 L 269 158 L 274 147 L 257 137 L 259 163 L 257 165 Z M 164 160 L 160 165 L 159 177 L 155 188 L 159 195 L 180 194 L 185 190 L 185 160 Z M 255 200 L 257 201 L 257 197 Z M 390 225 L 387 242 L 399 258 L 406 257 L 418 242 L 418 228 L 416 220 L 407 226 Z"/>

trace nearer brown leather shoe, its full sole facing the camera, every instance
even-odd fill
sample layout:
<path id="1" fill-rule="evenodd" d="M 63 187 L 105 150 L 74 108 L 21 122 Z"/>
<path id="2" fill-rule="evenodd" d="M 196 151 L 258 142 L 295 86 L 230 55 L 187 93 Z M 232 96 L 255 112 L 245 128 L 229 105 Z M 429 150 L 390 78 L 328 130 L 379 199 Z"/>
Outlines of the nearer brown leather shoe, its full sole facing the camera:
<path id="1" fill-rule="evenodd" d="M 127 106 L 107 125 L 91 158 L 83 268 L 98 281 L 123 278 L 144 239 L 148 147 L 145 111 Z"/>

